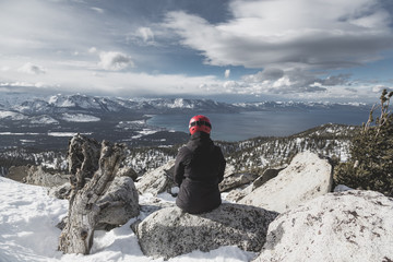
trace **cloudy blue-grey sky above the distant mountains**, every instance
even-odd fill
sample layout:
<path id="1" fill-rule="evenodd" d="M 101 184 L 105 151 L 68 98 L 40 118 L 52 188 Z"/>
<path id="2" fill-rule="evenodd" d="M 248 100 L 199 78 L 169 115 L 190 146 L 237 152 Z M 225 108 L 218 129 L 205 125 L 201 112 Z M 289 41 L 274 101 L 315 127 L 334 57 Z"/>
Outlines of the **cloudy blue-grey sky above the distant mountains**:
<path id="1" fill-rule="evenodd" d="M 374 102 L 392 0 L 0 0 L 0 92 Z"/>

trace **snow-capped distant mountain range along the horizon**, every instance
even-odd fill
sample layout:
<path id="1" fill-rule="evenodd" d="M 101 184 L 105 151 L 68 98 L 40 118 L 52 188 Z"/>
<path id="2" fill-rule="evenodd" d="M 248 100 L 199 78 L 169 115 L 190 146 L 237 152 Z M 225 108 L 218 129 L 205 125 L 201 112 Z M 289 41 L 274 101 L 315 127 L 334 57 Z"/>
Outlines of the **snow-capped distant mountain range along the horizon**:
<path id="1" fill-rule="evenodd" d="M 16 103 L 17 102 L 17 103 Z M 48 98 L 35 98 L 25 102 L 19 99 L 0 100 L 0 110 L 23 115 L 90 114 L 93 116 L 110 112 L 134 114 L 177 114 L 177 112 L 239 112 L 239 111 L 276 111 L 311 109 L 369 109 L 366 104 L 332 104 L 308 102 L 259 102 L 259 103 L 219 103 L 212 99 L 186 98 L 141 98 L 124 99 L 118 97 L 96 97 L 87 95 L 55 95 Z M 9 117 L 12 118 L 12 114 Z M 15 116 L 20 118 L 21 116 Z"/>

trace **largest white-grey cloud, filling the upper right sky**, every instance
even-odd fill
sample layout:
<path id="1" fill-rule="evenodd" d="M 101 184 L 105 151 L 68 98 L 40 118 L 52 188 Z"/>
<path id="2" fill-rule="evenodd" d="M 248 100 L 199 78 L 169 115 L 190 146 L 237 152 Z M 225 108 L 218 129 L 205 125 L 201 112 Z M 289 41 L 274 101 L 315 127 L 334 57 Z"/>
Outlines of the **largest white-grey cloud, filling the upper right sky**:
<path id="1" fill-rule="evenodd" d="M 347 68 L 393 47 L 391 16 L 378 0 L 234 0 L 229 7 L 226 23 L 180 11 L 167 14 L 166 26 L 214 66 Z"/>

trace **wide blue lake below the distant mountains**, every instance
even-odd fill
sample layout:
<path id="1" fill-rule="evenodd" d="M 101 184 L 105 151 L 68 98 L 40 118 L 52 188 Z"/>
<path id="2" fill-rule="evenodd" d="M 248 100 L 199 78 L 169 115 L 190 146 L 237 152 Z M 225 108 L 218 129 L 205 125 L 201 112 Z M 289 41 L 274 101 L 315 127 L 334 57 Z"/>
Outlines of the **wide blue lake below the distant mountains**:
<path id="1" fill-rule="evenodd" d="M 241 141 L 255 136 L 286 136 L 324 123 L 360 126 L 366 110 L 248 111 L 240 114 L 200 114 L 210 118 L 213 140 Z M 148 124 L 188 132 L 192 114 L 156 115 Z"/>

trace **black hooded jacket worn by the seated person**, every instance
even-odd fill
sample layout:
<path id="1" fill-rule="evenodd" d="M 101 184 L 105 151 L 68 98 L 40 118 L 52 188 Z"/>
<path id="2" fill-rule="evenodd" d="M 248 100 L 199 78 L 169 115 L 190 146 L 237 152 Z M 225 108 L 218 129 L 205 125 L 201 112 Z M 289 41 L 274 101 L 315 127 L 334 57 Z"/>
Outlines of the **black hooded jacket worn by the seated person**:
<path id="1" fill-rule="evenodd" d="M 196 132 L 181 147 L 175 163 L 175 181 L 179 186 L 176 204 L 191 214 L 212 211 L 221 205 L 218 183 L 224 179 L 226 162 L 210 135 Z"/>

